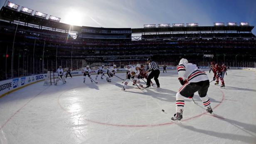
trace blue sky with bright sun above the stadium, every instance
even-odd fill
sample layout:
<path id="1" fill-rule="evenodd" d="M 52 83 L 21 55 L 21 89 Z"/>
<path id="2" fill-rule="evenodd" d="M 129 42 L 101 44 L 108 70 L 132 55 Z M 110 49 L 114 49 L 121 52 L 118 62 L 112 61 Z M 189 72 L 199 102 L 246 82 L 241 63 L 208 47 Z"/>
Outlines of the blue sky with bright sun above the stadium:
<path id="1" fill-rule="evenodd" d="M 144 24 L 249 22 L 256 25 L 256 0 L 10 0 L 90 27 L 142 28 Z M 5 0 L 0 0 L 4 5 Z M 48 18 L 47 17 L 47 18 Z M 256 34 L 256 28 L 253 29 Z"/>

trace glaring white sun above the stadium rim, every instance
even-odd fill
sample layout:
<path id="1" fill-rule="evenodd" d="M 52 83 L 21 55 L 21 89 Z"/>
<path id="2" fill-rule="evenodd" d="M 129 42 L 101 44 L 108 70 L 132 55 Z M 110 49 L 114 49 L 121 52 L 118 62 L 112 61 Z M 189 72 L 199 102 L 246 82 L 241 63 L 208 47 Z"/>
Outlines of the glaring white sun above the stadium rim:
<path id="1" fill-rule="evenodd" d="M 67 10 L 66 15 L 63 17 L 63 23 L 82 26 L 81 12 L 77 10 Z"/>

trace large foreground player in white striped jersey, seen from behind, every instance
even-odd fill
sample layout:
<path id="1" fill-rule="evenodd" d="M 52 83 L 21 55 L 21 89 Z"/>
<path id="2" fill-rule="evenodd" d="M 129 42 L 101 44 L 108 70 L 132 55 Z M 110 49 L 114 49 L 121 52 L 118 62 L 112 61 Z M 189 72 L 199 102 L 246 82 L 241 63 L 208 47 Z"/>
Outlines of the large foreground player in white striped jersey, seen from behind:
<path id="1" fill-rule="evenodd" d="M 177 66 L 179 74 L 178 80 L 182 87 L 176 94 L 176 114 L 171 118 L 173 122 L 181 122 L 183 107 L 185 105 L 184 98 L 193 98 L 194 93 L 198 91 L 199 97 L 203 105 L 207 107 L 207 112 L 213 112 L 210 106 L 210 100 L 207 95 L 209 88 L 209 79 L 207 74 L 197 65 L 188 63 L 187 59 L 181 59 Z"/>

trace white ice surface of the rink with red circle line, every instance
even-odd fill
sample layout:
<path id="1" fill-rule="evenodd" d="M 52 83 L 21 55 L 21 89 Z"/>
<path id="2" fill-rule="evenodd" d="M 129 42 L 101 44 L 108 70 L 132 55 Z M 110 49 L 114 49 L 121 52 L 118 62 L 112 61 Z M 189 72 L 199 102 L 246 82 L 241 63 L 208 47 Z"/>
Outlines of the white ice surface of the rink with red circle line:
<path id="1" fill-rule="evenodd" d="M 139 90 L 130 82 L 122 91 L 116 77 L 98 84 L 88 78 L 83 83 L 83 76 L 57 86 L 39 82 L 0 98 L 0 143 L 255 144 L 256 73 L 227 73 L 225 89 L 213 82 L 209 88 L 215 117 L 206 114 L 196 93 L 196 104 L 185 99 L 182 124 L 170 122 L 181 87 L 176 71 L 160 73 L 159 89 Z M 213 73 L 207 74 L 212 80 Z"/>

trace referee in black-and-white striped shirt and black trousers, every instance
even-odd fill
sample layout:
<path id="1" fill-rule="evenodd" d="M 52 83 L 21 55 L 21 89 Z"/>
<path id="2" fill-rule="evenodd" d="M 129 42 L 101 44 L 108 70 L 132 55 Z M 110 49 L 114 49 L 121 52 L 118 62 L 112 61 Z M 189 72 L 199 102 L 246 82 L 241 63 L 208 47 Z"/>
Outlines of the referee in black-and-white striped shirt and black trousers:
<path id="1" fill-rule="evenodd" d="M 147 59 L 147 63 L 148 63 L 149 69 L 148 71 L 146 71 L 146 73 L 149 73 L 149 72 L 151 73 L 148 75 L 146 88 L 150 87 L 150 81 L 152 78 L 154 78 L 156 85 L 158 86 L 158 88 L 160 88 L 160 84 L 158 81 L 158 76 L 160 74 L 158 64 L 156 64 L 155 61 L 151 61 L 150 58 Z"/>

